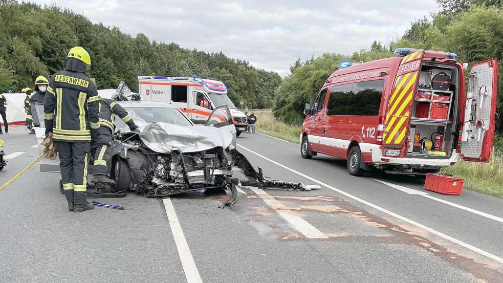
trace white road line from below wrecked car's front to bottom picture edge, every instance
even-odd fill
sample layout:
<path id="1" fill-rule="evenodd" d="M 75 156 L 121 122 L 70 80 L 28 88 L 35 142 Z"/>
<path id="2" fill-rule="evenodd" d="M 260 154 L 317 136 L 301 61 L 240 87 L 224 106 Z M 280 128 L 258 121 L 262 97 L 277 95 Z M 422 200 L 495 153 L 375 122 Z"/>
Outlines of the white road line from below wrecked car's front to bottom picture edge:
<path id="1" fill-rule="evenodd" d="M 182 227 L 178 221 L 177 213 L 174 211 L 171 199 L 168 197 L 163 199 L 162 202 L 166 209 L 166 216 L 168 216 L 169 227 L 171 228 L 171 233 L 173 233 L 174 242 L 177 244 L 178 255 L 182 262 L 187 283 L 202 283 L 203 280 L 201 279 L 201 275 L 199 275 L 198 268 L 195 266 L 194 258 L 192 257 L 192 253 L 190 253 L 187 240 L 185 240 Z"/>

